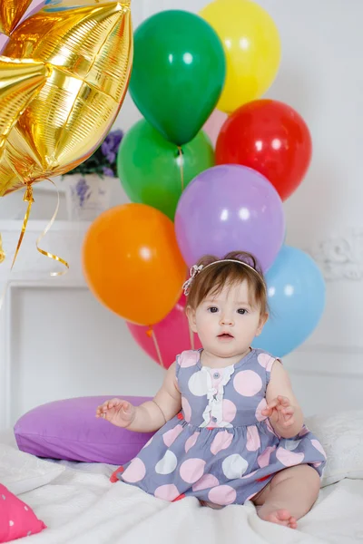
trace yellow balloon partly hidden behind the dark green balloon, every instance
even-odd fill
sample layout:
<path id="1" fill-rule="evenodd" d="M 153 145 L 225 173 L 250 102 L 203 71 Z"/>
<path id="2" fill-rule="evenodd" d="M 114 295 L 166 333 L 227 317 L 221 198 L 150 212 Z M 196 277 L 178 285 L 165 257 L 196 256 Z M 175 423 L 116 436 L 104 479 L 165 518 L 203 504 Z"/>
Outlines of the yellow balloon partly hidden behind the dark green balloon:
<path id="1" fill-rule="evenodd" d="M 220 36 L 227 60 L 227 77 L 217 108 L 231 113 L 260 98 L 280 65 L 279 31 L 270 15 L 250 0 L 216 0 L 201 17 Z"/>

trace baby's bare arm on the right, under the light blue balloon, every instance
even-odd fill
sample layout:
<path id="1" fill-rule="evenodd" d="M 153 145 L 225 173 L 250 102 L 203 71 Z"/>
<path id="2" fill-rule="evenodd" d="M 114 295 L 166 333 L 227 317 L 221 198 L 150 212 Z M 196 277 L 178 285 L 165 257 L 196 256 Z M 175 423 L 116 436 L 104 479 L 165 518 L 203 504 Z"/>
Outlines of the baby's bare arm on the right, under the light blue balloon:
<path id="1" fill-rule="evenodd" d="M 289 374 L 280 361 L 272 366 L 266 402 L 267 408 L 262 414 L 269 416 L 272 427 L 280 436 L 292 438 L 301 431 L 304 415 L 292 392 Z"/>

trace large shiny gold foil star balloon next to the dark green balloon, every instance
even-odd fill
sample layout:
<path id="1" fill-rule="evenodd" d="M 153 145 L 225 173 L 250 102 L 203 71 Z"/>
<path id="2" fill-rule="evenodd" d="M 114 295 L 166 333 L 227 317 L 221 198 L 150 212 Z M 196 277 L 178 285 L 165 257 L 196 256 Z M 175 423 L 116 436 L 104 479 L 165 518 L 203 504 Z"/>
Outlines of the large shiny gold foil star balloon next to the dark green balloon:
<path id="1" fill-rule="evenodd" d="M 48 1 L 15 29 L 3 54 L 52 70 L 7 135 L 0 196 L 74 169 L 102 143 L 131 73 L 130 2 Z"/>

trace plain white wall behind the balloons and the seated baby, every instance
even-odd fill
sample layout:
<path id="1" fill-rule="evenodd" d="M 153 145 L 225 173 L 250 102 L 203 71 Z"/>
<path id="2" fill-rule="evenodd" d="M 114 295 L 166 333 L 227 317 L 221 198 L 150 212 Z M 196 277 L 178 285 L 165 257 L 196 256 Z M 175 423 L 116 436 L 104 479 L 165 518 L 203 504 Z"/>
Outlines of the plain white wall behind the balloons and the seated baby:
<path id="1" fill-rule="evenodd" d="M 201 0 L 134 0 L 135 25 L 142 17 L 162 9 L 197 11 L 207 3 Z M 309 174 L 285 204 L 287 241 L 314 253 L 326 277 L 330 278 L 325 316 L 309 342 L 288 357 L 287 364 L 308 413 L 320 410 L 323 404 L 327 409 L 358 406 L 361 382 L 357 378 L 363 372 L 363 335 L 360 334 L 363 303 L 363 3 L 360 0 L 349 0 L 348 3 L 343 0 L 260 0 L 259 3 L 278 24 L 282 41 L 280 73 L 268 96 L 288 102 L 298 110 L 309 125 L 314 144 Z M 115 126 L 127 130 L 137 119 L 139 113 L 127 98 Z M 114 203 L 125 201 L 117 181 L 113 190 Z M 50 218 L 54 194 L 44 192 L 39 186 L 35 198 L 33 218 Z M 0 219 L 19 219 L 24 206 L 20 194 L 0 199 Z M 59 219 L 65 219 L 64 207 Z M 42 265 L 37 264 L 37 267 L 41 274 Z M 26 397 L 24 405 L 21 404 L 21 410 L 68 392 L 72 395 L 105 393 L 106 390 L 113 393 L 119 388 L 113 387 L 111 391 L 113 378 L 110 376 L 113 374 L 120 389 L 123 389 L 121 376 L 127 375 L 127 387 L 132 393 L 139 389 L 141 393 L 153 393 L 160 383 L 162 371 L 141 354 L 121 321 L 94 303 L 89 294 L 82 293 L 73 299 L 72 293 L 64 291 L 57 306 L 49 302 L 49 292 L 42 295 L 38 290 L 17 295 L 15 300 L 16 319 L 23 320 L 21 323 L 25 322 L 25 327 L 18 337 L 18 351 L 12 364 L 16 369 L 31 369 L 30 374 L 26 374 L 26 370 L 22 374 L 27 389 L 32 384 L 34 372 L 44 372 L 46 360 L 53 361 L 53 367 L 64 373 L 59 384 L 51 381 L 44 384 L 36 398 L 28 393 L 30 396 Z M 71 316 L 70 321 L 66 321 L 66 312 Z M 82 316 L 88 320 L 92 316 L 92 328 L 81 327 L 79 334 L 74 336 L 76 322 L 82 321 Z M 54 327 L 48 336 L 54 345 L 52 355 L 49 352 L 44 355 L 44 350 L 30 350 L 30 339 L 37 338 L 41 344 L 40 334 L 44 335 L 44 327 L 50 323 Z M 87 323 L 90 327 L 91 322 Z M 54 330 L 62 329 L 63 335 L 54 335 Z M 72 342 L 69 340 L 71 333 Z M 18 334 L 16 328 L 15 335 Z M 61 336 L 62 344 L 59 343 Z M 105 338 L 106 350 L 96 349 L 96 345 L 103 345 Z M 75 346 L 74 350 L 69 349 L 70 345 Z M 68 363 L 62 367 L 64 347 Z M 70 368 L 75 368 L 80 358 L 89 360 L 91 371 L 86 380 L 80 376 L 73 378 L 72 386 L 68 388 L 66 381 Z M 84 361 L 82 367 L 85 371 Z M 19 372 L 16 370 L 17 376 L 20 376 Z M 102 378 L 104 374 L 106 379 Z M 25 391 L 24 383 L 22 387 Z M 319 397 L 323 390 L 324 403 Z"/>

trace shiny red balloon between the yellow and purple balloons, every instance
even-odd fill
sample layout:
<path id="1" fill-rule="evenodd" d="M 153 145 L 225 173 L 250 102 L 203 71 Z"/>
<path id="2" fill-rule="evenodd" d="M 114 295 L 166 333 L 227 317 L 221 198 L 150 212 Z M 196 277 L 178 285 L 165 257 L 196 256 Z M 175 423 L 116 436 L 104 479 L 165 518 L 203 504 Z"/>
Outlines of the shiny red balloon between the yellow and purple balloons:
<path id="1" fill-rule="evenodd" d="M 216 147 L 217 164 L 241 164 L 263 174 L 286 200 L 299 187 L 311 160 L 306 122 L 276 100 L 248 102 L 224 122 Z"/>

